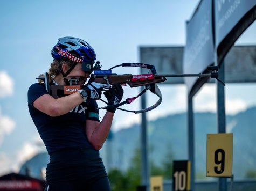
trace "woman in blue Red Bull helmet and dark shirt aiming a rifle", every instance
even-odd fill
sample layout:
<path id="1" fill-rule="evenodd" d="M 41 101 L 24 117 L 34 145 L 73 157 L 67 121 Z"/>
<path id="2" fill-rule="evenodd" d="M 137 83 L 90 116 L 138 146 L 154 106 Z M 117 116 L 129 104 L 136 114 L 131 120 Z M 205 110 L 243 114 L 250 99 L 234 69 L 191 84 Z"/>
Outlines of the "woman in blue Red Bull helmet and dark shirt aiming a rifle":
<path id="1" fill-rule="evenodd" d="M 93 48 L 73 37 L 60 38 L 52 57 L 50 85 L 67 85 L 70 78 L 85 84 L 96 60 Z M 100 122 L 95 100 L 101 98 L 102 87 L 93 77 L 82 90 L 58 99 L 46 91 L 44 83 L 29 88 L 29 112 L 50 155 L 45 190 L 110 190 L 99 150 L 109 134 L 115 108 L 108 109 Z M 104 94 L 108 105 L 118 104 L 123 89 L 114 84 Z"/>

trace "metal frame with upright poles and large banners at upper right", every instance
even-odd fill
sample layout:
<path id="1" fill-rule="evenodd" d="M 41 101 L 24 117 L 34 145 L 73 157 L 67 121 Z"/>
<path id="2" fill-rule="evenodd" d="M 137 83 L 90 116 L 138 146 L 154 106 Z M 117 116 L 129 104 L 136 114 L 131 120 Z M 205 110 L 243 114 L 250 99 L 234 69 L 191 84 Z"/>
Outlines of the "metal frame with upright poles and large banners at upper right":
<path id="1" fill-rule="evenodd" d="M 186 45 L 183 57 L 183 73 L 207 72 L 211 65 L 219 67 L 219 79 L 225 83 L 224 58 L 239 36 L 256 19 L 256 1 L 201 0 L 189 21 L 186 22 Z M 141 60 L 141 62 L 143 62 Z M 193 96 L 210 78 L 185 78 L 188 87 L 188 160 L 191 163 L 190 187 L 195 190 Z M 146 97 L 142 97 L 142 108 Z M 217 82 L 218 133 L 226 132 L 225 90 Z M 147 159 L 147 116 L 142 113 L 141 124 L 141 185 L 149 183 Z M 218 189 L 227 190 L 226 178 L 219 178 Z"/>

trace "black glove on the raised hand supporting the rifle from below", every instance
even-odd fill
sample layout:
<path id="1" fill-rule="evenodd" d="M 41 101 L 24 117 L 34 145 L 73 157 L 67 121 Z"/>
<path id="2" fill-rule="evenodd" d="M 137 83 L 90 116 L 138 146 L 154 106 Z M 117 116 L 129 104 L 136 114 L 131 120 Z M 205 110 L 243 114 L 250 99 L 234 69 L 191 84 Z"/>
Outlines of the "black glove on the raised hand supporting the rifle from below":
<path id="1" fill-rule="evenodd" d="M 123 88 L 120 84 L 113 84 L 109 91 L 104 92 L 104 95 L 108 99 L 108 105 L 119 104 L 123 98 Z M 107 108 L 108 112 L 115 113 L 116 107 Z"/>

